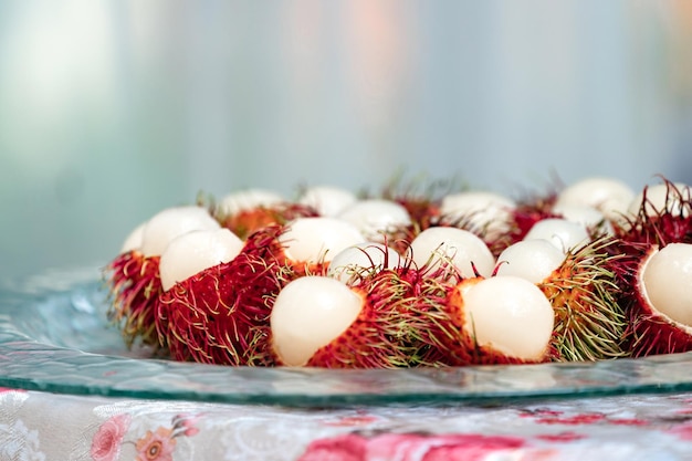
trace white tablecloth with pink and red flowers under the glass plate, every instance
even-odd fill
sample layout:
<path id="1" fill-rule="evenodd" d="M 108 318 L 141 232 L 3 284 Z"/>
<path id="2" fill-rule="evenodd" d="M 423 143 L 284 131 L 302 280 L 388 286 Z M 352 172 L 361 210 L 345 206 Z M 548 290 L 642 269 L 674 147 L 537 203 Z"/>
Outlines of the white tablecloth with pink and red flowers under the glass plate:
<path id="1" fill-rule="evenodd" d="M 0 460 L 692 460 L 692 394 L 284 408 L 0 389 Z"/>

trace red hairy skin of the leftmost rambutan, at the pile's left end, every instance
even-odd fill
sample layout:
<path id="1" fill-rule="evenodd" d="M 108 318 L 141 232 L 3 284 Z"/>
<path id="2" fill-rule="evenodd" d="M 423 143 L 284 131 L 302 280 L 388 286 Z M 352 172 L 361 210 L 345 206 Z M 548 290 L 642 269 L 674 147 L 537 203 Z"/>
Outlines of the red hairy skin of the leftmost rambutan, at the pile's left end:
<path id="1" fill-rule="evenodd" d="M 139 339 L 159 352 L 166 347 L 156 332 L 156 305 L 161 292 L 160 256 L 138 250 L 120 253 L 104 271 L 109 287 L 107 317 L 116 324 L 128 348 Z"/>

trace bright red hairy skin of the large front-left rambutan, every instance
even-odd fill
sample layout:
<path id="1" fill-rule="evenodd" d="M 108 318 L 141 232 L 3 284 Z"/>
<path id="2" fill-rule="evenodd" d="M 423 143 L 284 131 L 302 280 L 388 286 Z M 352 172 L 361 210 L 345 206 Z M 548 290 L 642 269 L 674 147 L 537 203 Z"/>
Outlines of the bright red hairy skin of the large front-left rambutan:
<path id="1" fill-rule="evenodd" d="M 271 366 L 269 317 L 279 291 L 298 276 L 281 258 L 281 226 L 250 235 L 240 254 L 160 296 L 157 331 L 177 360 Z"/>

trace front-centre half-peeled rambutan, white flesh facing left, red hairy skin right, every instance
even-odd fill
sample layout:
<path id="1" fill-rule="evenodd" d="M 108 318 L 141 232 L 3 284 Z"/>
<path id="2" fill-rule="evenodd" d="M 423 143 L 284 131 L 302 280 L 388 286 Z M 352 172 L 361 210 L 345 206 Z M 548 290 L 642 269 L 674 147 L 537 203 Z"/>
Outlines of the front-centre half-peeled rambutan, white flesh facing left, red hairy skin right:
<path id="1" fill-rule="evenodd" d="M 433 282 L 428 280 L 428 282 Z M 447 291 L 410 266 L 348 286 L 327 276 L 287 284 L 271 314 L 277 363 L 327 368 L 443 365 L 432 336 Z"/>

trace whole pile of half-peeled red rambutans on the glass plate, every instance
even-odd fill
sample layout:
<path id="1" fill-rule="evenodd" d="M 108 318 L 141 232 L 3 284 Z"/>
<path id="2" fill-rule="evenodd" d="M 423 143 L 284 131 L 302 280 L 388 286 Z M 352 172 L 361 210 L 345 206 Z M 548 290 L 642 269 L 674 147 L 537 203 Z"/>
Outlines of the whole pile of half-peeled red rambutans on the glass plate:
<path id="1" fill-rule="evenodd" d="M 172 207 L 106 266 L 128 347 L 231 366 L 401 368 L 692 349 L 692 198 L 594 177 L 512 199 L 261 189 Z"/>

